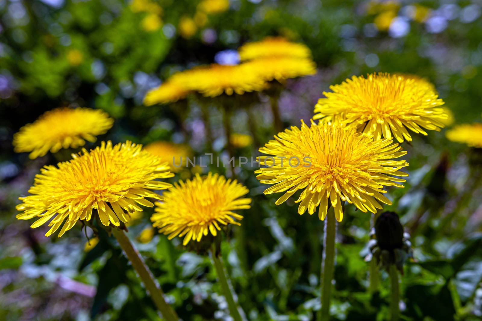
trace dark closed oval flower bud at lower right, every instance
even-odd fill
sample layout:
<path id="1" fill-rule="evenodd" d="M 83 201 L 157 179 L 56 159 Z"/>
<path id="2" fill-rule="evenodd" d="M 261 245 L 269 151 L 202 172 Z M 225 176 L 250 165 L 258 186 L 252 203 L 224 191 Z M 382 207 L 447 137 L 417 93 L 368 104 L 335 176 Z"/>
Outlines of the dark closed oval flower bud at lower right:
<path id="1" fill-rule="evenodd" d="M 403 247 L 403 226 L 395 212 L 384 212 L 376 219 L 375 236 L 382 250 L 393 251 Z"/>

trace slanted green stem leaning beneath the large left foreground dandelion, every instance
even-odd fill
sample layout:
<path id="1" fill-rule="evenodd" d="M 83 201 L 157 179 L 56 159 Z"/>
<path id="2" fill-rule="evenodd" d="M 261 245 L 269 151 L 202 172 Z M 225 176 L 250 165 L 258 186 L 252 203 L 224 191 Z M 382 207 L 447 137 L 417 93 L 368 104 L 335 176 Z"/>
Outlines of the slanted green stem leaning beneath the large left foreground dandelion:
<path id="1" fill-rule="evenodd" d="M 162 292 L 159 284 L 154 279 L 149 268 L 147 268 L 146 263 L 140 256 L 139 252 L 134 248 L 127 235 L 123 230 L 112 229 L 112 234 L 114 234 L 117 242 L 119 242 L 120 247 L 124 251 L 126 257 L 131 261 L 134 270 L 139 275 L 139 278 L 144 283 L 152 301 L 162 313 L 162 317 L 167 321 L 179 321 L 179 317 L 170 305 L 168 305 L 164 299 L 164 293 Z"/>

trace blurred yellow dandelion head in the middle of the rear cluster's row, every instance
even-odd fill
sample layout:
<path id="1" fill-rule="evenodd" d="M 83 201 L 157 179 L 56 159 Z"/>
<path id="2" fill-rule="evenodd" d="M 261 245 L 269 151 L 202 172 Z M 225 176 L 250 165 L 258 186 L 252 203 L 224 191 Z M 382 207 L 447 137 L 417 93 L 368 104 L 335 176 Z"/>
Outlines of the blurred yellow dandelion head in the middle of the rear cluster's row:
<path id="1" fill-rule="evenodd" d="M 241 95 L 244 92 L 261 91 L 267 86 L 266 81 L 245 64 L 212 64 L 194 68 L 186 75 L 186 87 L 206 97 L 215 97 L 222 93 Z"/>

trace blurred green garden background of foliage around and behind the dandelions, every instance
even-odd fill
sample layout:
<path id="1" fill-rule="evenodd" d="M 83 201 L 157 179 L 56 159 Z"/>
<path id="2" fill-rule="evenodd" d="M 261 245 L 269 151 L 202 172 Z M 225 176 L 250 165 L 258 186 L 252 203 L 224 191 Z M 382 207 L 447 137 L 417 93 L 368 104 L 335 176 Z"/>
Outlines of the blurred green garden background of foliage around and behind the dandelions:
<path id="1" fill-rule="evenodd" d="M 480 122 L 481 10 L 476 0 L 0 0 L 0 321 L 159 320 L 107 235 L 87 251 L 80 228 L 46 238 L 46 226 L 32 230 L 15 219 L 18 196 L 39 169 L 76 152 L 36 160 L 14 154 L 12 137 L 23 125 L 60 106 L 99 108 L 115 124 L 98 141 L 171 141 L 201 155 L 205 128 L 196 102 L 179 119 L 170 106 L 143 106 L 145 93 L 175 71 L 235 62 L 242 43 L 276 35 L 305 43 L 318 66 L 317 75 L 289 81 L 281 93 L 286 126 L 308 121 L 330 84 L 378 71 L 427 77 L 455 124 Z M 221 114 L 211 109 L 214 149 L 226 154 Z M 257 139 L 267 142 L 275 133 L 267 97 L 259 96 L 253 113 Z M 234 132 L 249 133 L 247 117 L 236 111 Z M 402 320 L 482 320 L 482 155 L 447 141 L 444 131 L 404 144 L 410 176 L 404 189 L 389 189 L 393 205 L 384 208 L 401 216 L 415 253 L 402 277 Z M 259 147 L 240 145 L 236 153 L 258 155 Z M 253 170 L 249 162 L 237 168 L 253 206 L 222 247 L 239 302 L 249 320 L 312 320 L 320 308 L 323 224 L 297 215 L 293 200 L 275 206 Z M 386 273 L 381 292 L 367 292 L 371 217 L 346 208 L 334 320 L 387 320 Z M 129 235 L 179 316 L 228 321 L 209 258 L 177 239 L 152 237 L 151 213 Z"/>

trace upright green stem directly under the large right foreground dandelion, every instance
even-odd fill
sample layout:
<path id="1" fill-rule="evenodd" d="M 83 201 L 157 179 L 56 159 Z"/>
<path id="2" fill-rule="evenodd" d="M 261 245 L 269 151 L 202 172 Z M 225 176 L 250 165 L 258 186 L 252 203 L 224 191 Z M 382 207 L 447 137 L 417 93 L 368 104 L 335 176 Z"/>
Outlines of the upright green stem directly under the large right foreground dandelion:
<path id="1" fill-rule="evenodd" d="M 330 320 L 330 301 L 332 280 L 335 271 L 335 236 L 336 218 L 333 206 L 328 209 L 325 218 L 323 258 L 321 263 L 321 310 L 319 321 Z"/>

